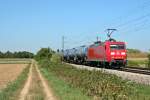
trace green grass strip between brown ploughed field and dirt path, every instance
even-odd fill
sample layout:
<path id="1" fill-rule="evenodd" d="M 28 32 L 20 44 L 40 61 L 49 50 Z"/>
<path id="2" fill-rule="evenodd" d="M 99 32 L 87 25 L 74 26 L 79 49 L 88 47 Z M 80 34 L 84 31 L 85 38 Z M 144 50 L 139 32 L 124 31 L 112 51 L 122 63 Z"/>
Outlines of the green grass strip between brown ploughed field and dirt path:
<path id="1" fill-rule="evenodd" d="M 29 66 L 30 65 L 23 70 L 16 80 L 9 83 L 6 88 L 0 91 L 0 100 L 16 100 L 17 97 L 15 93 L 26 81 L 29 72 Z"/>

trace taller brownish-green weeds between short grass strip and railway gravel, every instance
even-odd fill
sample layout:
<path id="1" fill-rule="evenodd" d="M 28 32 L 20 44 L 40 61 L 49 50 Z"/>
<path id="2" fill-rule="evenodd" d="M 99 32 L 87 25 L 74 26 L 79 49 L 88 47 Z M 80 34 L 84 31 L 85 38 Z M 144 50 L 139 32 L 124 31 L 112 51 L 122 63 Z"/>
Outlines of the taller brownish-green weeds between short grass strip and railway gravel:
<path id="1" fill-rule="evenodd" d="M 67 64 L 40 63 L 41 68 L 53 73 L 71 87 L 80 89 L 85 95 L 102 100 L 129 100 L 137 97 L 132 83 L 101 71 L 79 70 Z M 51 76 L 49 76 L 51 77 Z M 55 79 L 54 79 L 55 80 Z"/>

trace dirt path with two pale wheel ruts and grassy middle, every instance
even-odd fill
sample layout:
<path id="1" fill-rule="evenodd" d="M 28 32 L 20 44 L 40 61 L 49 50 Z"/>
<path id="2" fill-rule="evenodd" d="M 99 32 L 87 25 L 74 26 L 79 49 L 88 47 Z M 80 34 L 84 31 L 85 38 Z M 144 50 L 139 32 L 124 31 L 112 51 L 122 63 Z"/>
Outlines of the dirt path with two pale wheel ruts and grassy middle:
<path id="1" fill-rule="evenodd" d="M 32 61 L 29 76 L 19 100 L 56 100 L 35 61 Z"/>

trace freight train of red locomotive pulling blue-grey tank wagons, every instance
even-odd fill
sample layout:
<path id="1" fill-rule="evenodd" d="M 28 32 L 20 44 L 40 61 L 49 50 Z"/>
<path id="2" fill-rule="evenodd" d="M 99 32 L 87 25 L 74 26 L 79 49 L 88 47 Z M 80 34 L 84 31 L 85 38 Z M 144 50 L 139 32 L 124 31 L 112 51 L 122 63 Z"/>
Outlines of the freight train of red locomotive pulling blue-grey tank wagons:
<path id="1" fill-rule="evenodd" d="M 63 60 L 105 68 L 125 67 L 127 64 L 126 44 L 112 38 L 104 42 L 97 41 L 89 46 L 64 50 Z"/>

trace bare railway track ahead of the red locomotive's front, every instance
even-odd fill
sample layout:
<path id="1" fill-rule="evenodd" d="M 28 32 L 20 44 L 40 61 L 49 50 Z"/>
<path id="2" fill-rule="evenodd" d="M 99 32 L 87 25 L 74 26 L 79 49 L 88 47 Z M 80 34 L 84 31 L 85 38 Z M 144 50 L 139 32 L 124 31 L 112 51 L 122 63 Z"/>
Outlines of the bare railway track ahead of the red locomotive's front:
<path id="1" fill-rule="evenodd" d="M 126 67 L 126 68 L 120 69 L 120 71 L 150 75 L 150 70 L 146 68 Z"/>

